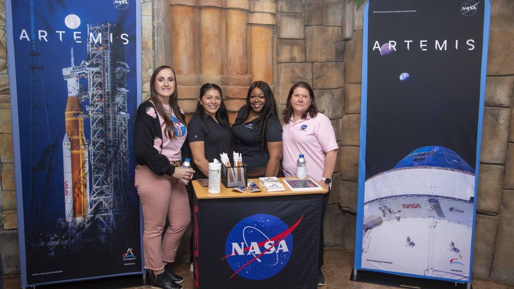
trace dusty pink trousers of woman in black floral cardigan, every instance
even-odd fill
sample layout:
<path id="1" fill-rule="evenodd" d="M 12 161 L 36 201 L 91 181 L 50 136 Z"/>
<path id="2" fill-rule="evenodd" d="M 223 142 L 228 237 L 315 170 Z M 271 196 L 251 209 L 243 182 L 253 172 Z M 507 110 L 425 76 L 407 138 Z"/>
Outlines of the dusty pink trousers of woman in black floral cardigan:
<path id="1" fill-rule="evenodd" d="M 175 261 L 182 235 L 191 222 L 186 186 L 168 175 L 156 175 L 141 165 L 136 166 L 135 178 L 143 210 L 144 267 L 161 270 L 164 262 Z M 161 238 L 166 218 L 170 226 Z"/>

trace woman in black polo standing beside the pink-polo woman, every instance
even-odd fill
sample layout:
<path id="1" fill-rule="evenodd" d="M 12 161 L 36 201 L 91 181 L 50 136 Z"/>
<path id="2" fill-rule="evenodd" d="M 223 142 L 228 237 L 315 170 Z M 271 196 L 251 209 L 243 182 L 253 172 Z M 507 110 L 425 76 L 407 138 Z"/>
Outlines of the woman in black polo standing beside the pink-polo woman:
<path id="1" fill-rule="evenodd" d="M 246 105 L 241 107 L 232 134 L 237 152 L 248 166 L 248 177 L 277 176 L 282 159 L 282 126 L 277 116 L 273 92 L 264 81 L 248 88 Z"/>

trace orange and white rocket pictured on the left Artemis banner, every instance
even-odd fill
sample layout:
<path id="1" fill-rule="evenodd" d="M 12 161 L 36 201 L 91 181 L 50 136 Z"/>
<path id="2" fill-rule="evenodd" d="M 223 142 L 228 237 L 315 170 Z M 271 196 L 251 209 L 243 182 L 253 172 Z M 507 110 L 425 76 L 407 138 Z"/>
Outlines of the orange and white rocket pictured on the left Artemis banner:
<path id="1" fill-rule="evenodd" d="M 89 203 L 89 157 L 84 136 L 84 114 L 80 106 L 80 83 L 84 71 L 76 67 L 71 48 L 71 66 L 63 68 L 68 85 L 66 133 L 63 138 L 64 200 L 66 222 L 84 222 Z"/>

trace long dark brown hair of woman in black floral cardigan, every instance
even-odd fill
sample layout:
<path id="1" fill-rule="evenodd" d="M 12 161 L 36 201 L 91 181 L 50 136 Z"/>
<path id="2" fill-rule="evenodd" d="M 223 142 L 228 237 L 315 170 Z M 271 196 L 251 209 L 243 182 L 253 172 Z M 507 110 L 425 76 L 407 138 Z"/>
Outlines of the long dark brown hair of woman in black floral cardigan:
<path id="1" fill-rule="evenodd" d="M 175 91 L 170 97 L 170 108 L 173 110 L 175 115 L 178 119 L 180 119 L 183 123 L 186 123 L 186 117 L 184 114 L 180 111 L 180 107 L 178 107 L 178 92 L 177 92 L 177 75 L 175 74 L 175 70 L 167 65 L 162 65 L 157 68 L 155 68 L 154 73 L 152 74 L 152 78 L 150 78 L 150 100 L 154 103 L 155 109 L 157 110 L 157 113 L 162 116 L 164 119 L 164 133 L 171 139 L 175 138 L 175 134 L 172 131 L 173 128 L 173 120 L 171 120 L 166 112 L 164 111 L 164 106 L 159 101 L 159 97 L 157 96 L 157 90 L 155 89 L 155 79 L 157 78 L 157 75 L 160 73 L 160 71 L 164 69 L 171 69 L 173 71 L 173 77 L 175 78 Z"/>

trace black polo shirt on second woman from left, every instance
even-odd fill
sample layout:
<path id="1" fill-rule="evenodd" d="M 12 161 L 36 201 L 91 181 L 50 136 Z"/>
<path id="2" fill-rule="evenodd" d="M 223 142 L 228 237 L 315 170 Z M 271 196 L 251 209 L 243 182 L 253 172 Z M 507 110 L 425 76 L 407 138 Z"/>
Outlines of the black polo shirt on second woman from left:
<path id="1" fill-rule="evenodd" d="M 190 143 L 204 141 L 205 158 L 209 162 L 214 158 L 221 160 L 219 159 L 221 153 L 232 156 L 232 135 L 209 115 L 205 122 L 201 121 L 199 114 L 193 115 L 188 124 L 188 141 Z M 193 179 L 207 178 L 194 163 L 192 168 L 196 171 Z"/>

